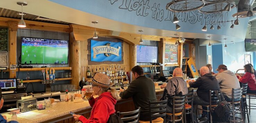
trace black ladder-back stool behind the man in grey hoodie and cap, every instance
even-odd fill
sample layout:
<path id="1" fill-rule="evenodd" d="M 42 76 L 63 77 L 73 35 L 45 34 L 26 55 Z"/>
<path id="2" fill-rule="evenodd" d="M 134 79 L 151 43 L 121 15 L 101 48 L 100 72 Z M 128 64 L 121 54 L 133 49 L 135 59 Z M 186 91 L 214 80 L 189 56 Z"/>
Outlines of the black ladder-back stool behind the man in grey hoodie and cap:
<path id="1" fill-rule="evenodd" d="M 244 114 L 242 112 L 242 107 L 243 107 L 243 104 L 242 104 L 242 93 L 243 93 L 243 88 L 232 88 L 232 102 L 228 102 L 232 105 L 232 117 L 233 117 L 233 120 L 231 120 L 231 118 L 229 118 L 229 121 L 232 121 L 232 122 L 243 122 L 244 123 Z M 241 114 L 241 117 L 242 118 L 239 118 L 239 117 L 236 117 L 235 116 L 235 107 L 239 107 L 238 109 L 236 109 L 237 111 L 240 111 L 239 114 Z M 237 119 L 240 119 L 240 120 L 236 120 Z"/>

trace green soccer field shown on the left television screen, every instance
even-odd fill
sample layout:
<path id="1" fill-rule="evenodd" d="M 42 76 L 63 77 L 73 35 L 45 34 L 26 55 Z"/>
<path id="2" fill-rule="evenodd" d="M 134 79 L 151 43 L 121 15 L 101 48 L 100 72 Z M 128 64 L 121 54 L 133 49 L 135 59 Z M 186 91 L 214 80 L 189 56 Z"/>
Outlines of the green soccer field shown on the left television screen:
<path id="1" fill-rule="evenodd" d="M 62 61 L 68 63 L 68 47 L 22 46 L 22 64 L 54 64 Z"/>

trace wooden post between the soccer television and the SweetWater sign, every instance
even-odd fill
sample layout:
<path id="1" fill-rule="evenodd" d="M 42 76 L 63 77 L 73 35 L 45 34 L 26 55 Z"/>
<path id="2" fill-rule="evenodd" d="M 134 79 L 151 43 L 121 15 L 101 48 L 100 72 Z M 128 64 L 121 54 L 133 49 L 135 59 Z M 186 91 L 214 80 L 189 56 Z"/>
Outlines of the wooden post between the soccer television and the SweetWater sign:
<path id="1" fill-rule="evenodd" d="M 72 67 L 72 85 L 79 86 L 80 81 L 80 41 L 76 41 L 74 38 L 74 33 L 71 32 L 69 36 L 69 56 L 70 56 L 70 66 Z"/>

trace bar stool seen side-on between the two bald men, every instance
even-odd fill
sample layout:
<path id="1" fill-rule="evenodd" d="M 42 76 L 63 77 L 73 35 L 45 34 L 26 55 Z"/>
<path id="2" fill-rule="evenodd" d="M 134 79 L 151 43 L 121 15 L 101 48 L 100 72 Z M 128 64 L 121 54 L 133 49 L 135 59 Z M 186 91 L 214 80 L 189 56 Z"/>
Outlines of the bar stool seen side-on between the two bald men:
<path id="1" fill-rule="evenodd" d="M 188 91 L 188 94 L 186 94 L 185 98 L 185 108 L 184 108 L 184 122 L 187 123 L 186 114 L 191 114 L 192 122 L 194 122 L 194 113 L 193 113 L 193 94 L 194 89 Z M 191 103 L 189 105 L 188 103 Z"/>

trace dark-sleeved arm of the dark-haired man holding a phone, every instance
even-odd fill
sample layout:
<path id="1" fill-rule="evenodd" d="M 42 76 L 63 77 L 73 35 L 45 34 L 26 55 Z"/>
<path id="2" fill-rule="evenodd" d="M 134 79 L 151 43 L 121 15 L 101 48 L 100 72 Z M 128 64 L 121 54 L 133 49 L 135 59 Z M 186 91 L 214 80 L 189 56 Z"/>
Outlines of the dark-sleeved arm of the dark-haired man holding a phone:
<path id="1" fill-rule="evenodd" d="M 136 93 L 137 93 L 137 86 L 136 86 L 135 82 L 131 82 L 129 87 L 125 91 L 123 91 L 123 89 L 120 89 L 119 96 L 122 99 L 127 99 L 129 97 L 132 97 Z"/>

